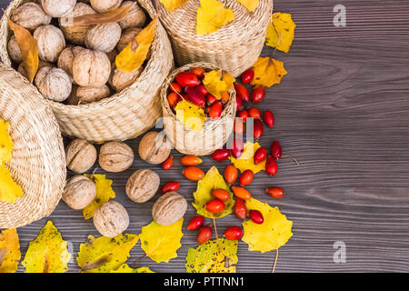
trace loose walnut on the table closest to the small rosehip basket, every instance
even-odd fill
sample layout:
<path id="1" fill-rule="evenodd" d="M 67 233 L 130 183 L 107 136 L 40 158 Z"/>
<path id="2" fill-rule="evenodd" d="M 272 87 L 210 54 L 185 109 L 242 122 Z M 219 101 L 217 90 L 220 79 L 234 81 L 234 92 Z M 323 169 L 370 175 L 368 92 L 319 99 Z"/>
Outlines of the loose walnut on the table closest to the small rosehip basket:
<path id="1" fill-rule="evenodd" d="M 171 145 L 165 135 L 148 132 L 139 143 L 139 156 L 149 164 L 161 164 L 169 156 Z"/>

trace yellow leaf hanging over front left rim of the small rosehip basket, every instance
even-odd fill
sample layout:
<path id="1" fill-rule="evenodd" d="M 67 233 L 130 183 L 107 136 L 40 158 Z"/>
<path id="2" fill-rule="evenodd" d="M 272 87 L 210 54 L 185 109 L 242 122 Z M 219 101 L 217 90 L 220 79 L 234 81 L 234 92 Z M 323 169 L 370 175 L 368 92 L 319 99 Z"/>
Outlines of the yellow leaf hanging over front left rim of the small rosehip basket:
<path id="1" fill-rule="evenodd" d="M 206 121 L 205 111 L 202 108 L 187 100 L 182 100 L 175 106 L 175 112 L 176 118 L 181 123 L 198 134 L 202 131 Z"/>

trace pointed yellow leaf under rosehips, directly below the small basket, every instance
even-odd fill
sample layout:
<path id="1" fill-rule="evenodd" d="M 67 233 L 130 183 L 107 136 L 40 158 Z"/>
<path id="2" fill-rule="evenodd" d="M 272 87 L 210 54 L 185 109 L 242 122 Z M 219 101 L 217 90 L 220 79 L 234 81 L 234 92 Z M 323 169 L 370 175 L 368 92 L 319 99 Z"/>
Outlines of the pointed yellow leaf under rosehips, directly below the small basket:
<path id="1" fill-rule="evenodd" d="M 214 199 L 212 190 L 224 189 L 230 196 L 227 201 L 224 201 L 224 210 L 219 213 L 212 213 L 207 211 L 205 205 L 210 200 Z M 233 212 L 234 206 L 233 193 L 230 191 L 230 187 L 224 181 L 224 177 L 220 175 L 217 167 L 212 166 L 207 171 L 205 177 L 197 182 L 197 188 L 194 193 L 195 202 L 192 204 L 197 210 L 197 214 L 208 218 L 221 218 L 227 216 Z"/>

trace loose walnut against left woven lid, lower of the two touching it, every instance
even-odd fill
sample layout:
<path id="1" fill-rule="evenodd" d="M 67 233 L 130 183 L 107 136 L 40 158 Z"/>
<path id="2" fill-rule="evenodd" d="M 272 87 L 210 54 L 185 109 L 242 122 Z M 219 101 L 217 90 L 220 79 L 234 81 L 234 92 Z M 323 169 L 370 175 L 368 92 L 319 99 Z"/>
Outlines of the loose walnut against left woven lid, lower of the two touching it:
<path id="1" fill-rule="evenodd" d="M 73 176 L 66 181 L 63 200 L 75 210 L 84 209 L 96 196 L 95 183 L 83 175 Z"/>

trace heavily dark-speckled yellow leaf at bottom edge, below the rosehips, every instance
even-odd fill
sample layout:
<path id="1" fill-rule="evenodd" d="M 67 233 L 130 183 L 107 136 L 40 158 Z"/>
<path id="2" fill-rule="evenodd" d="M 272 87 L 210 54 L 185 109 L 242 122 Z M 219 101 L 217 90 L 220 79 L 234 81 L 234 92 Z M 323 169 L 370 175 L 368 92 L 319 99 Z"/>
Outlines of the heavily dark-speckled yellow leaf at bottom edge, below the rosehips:
<path id="1" fill-rule="evenodd" d="M 238 240 L 219 238 L 197 248 L 189 248 L 186 256 L 187 273 L 235 273 Z"/>

